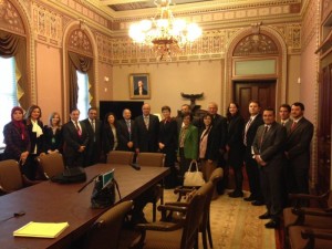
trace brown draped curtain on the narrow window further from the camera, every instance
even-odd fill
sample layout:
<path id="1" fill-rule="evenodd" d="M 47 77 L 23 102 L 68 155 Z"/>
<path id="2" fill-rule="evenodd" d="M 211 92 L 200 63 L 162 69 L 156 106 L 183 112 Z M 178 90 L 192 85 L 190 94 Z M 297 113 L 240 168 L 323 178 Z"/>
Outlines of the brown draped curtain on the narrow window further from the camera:
<path id="1" fill-rule="evenodd" d="M 69 83 L 70 83 L 70 110 L 77 107 L 79 85 L 76 70 L 87 73 L 89 82 L 94 82 L 93 59 L 68 52 L 69 54 Z"/>

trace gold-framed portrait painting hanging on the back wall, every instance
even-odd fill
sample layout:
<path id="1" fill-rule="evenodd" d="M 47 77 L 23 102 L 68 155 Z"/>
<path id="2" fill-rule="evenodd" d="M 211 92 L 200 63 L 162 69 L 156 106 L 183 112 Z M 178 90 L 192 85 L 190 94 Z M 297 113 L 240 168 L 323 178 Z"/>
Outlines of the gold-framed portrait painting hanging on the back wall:
<path id="1" fill-rule="evenodd" d="M 151 98 L 151 82 L 147 73 L 129 75 L 129 96 L 135 100 Z"/>

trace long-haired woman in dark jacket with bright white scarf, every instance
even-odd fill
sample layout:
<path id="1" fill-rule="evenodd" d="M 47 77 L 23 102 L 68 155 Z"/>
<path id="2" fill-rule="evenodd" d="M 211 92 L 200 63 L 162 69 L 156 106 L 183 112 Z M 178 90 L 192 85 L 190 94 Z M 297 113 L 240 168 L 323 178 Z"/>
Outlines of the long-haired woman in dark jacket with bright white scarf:
<path id="1" fill-rule="evenodd" d="M 29 163 L 31 165 L 31 172 L 27 177 L 31 180 L 34 180 L 38 176 L 38 162 L 37 157 L 45 154 L 45 141 L 43 134 L 43 123 L 40 121 L 42 116 L 41 108 L 38 105 L 31 105 L 25 113 L 25 125 L 29 131 L 30 136 L 30 153 L 29 153 Z"/>

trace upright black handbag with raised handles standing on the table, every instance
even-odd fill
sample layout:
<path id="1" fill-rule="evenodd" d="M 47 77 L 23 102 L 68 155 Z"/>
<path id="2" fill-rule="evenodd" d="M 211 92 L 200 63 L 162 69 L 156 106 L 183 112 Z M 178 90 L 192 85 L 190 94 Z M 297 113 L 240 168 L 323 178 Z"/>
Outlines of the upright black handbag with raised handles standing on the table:
<path id="1" fill-rule="evenodd" d="M 91 207 L 92 208 L 106 208 L 111 207 L 115 203 L 115 188 L 121 199 L 118 184 L 112 178 L 107 185 L 103 185 L 102 177 L 98 176 L 94 181 L 94 188 L 91 195 Z"/>

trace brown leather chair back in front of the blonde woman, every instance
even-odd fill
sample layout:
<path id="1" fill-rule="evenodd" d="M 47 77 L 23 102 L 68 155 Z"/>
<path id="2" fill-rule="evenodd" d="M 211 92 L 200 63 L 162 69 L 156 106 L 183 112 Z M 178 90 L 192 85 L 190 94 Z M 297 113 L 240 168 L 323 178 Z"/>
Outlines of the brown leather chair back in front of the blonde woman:
<path id="1" fill-rule="evenodd" d="M 48 179 L 60 175 L 64 170 L 63 158 L 60 153 L 40 156 L 38 157 L 38 162 Z"/>

